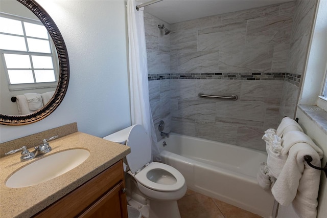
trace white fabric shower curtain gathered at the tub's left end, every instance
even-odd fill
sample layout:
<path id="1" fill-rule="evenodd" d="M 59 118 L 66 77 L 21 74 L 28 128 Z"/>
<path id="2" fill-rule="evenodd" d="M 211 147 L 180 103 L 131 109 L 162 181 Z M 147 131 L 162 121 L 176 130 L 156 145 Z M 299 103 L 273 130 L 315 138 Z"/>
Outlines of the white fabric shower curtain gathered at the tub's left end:
<path id="1" fill-rule="evenodd" d="M 148 62 L 145 43 L 143 8 L 136 10 L 136 1 L 127 0 L 129 78 L 132 124 L 141 124 L 151 139 L 152 159 L 160 160 L 153 125 L 148 88 Z"/>

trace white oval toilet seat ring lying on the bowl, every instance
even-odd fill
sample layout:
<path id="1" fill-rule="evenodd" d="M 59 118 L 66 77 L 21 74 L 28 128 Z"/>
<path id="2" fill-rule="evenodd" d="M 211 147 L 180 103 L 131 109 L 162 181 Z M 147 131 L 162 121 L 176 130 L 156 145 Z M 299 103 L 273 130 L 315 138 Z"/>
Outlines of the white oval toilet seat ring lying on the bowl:
<path id="1" fill-rule="evenodd" d="M 149 171 L 153 169 L 161 169 L 171 173 L 171 175 L 175 177 L 176 182 L 171 185 L 152 182 L 151 180 L 148 179 L 147 174 Z M 177 191 L 181 189 L 185 184 L 185 179 L 183 175 L 177 169 L 167 164 L 158 163 L 158 162 L 150 163 L 148 166 L 146 166 L 144 169 L 142 169 L 136 175 L 134 175 L 134 178 L 137 182 L 141 183 L 145 187 L 157 191 Z"/>

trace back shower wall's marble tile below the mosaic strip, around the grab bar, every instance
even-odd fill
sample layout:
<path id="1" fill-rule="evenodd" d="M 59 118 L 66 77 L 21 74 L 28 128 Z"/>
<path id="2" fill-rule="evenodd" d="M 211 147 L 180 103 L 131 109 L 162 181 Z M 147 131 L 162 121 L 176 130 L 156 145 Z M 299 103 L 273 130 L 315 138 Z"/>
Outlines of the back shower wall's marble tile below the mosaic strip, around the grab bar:
<path id="1" fill-rule="evenodd" d="M 172 132 L 264 150 L 264 130 L 276 127 L 283 81 L 171 80 Z M 199 92 L 239 96 L 201 99 Z"/>

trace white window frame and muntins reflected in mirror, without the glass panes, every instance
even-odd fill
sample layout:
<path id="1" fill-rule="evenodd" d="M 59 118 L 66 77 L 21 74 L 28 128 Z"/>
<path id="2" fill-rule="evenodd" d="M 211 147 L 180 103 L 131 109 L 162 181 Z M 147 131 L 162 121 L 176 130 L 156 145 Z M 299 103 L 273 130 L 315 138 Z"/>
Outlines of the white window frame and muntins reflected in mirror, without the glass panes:
<path id="1" fill-rule="evenodd" d="M 41 21 L 39 20 L 35 20 L 35 19 L 30 19 L 30 18 L 26 18 L 26 17 L 20 17 L 20 16 L 16 16 L 16 15 L 12 15 L 12 14 L 6 14 L 6 13 L 0 13 L 1 17 L 5 17 L 5 18 L 9 18 L 9 19 L 15 19 L 18 21 L 21 21 L 22 23 L 22 28 L 23 28 L 23 32 L 24 35 L 17 35 L 17 34 L 11 34 L 11 33 L 3 33 L 0 32 L 1 34 L 5 34 L 5 35 L 9 35 L 9 36 L 20 36 L 20 37 L 24 37 L 25 38 L 25 43 L 26 43 L 26 50 L 27 51 L 16 51 L 16 50 L 4 50 L 4 49 L 0 49 L 0 55 L 1 55 L 1 61 L 3 62 L 3 69 L 5 70 L 6 73 L 6 77 L 8 80 L 8 84 L 9 84 L 9 90 L 10 91 L 14 91 L 14 90 L 29 90 L 29 89 L 42 89 L 42 88 L 56 88 L 57 87 L 57 82 L 58 82 L 58 76 L 59 76 L 59 63 L 58 63 L 58 59 L 57 56 L 54 55 L 56 54 L 56 50 L 55 50 L 55 46 L 54 43 L 51 40 L 51 37 L 48 34 L 48 38 L 38 38 L 35 36 L 27 36 L 26 35 L 26 31 L 24 29 L 24 25 L 23 23 L 32 23 L 32 24 L 37 24 L 37 25 L 42 25 Z M 47 41 L 49 43 L 49 47 L 50 47 L 50 51 L 49 53 L 43 53 L 43 52 L 29 52 L 29 48 L 28 48 L 28 39 L 39 39 L 39 40 L 44 40 Z M 31 61 L 31 68 L 29 69 L 15 69 L 15 68 L 7 68 L 6 66 L 6 61 L 5 61 L 5 54 L 17 54 L 17 55 L 28 55 L 30 57 L 30 61 Z M 33 62 L 32 62 L 32 56 L 43 56 L 43 57 L 51 57 L 52 58 L 52 63 L 53 63 L 53 68 L 42 68 L 42 69 L 38 69 L 38 68 L 34 68 L 33 67 Z M 19 83 L 19 84 L 11 84 L 10 79 L 9 79 L 9 73 L 8 71 L 10 70 L 32 70 L 33 72 L 33 79 L 34 82 L 33 83 Z M 54 71 L 54 77 L 55 77 L 55 81 L 51 81 L 51 82 L 37 82 L 36 78 L 35 78 L 35 71 L 38 70 L 53 70 Z"/>

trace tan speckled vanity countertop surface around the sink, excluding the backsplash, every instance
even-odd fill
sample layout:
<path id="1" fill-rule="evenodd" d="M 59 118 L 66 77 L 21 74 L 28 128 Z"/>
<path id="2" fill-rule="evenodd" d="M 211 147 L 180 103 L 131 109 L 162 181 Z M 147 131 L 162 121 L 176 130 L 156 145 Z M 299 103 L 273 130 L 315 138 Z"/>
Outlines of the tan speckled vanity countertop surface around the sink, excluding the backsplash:
<path id="1" fill-rule="evenodd" d="M 130 147 L 110 142 L 85 133 L 76 132 L 49 142 L 52 151 L 33 160 L 20 162 L 20 152 L 0 158 L 0 216 L 30 217 L 78 186 L 98 175 L 130 152 Z M 9 176 L 26 164 L 56 152 L 85 148 L 90 156 L 81 165 L 63 175 L 24 188 L 8 188 L 5 183 Z M 33 149 L 30 149 L 32 151 Z M 37 170 L 37 169 L 36 169 Z"/>

